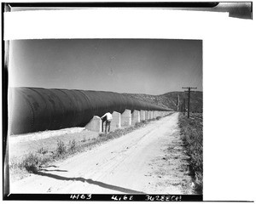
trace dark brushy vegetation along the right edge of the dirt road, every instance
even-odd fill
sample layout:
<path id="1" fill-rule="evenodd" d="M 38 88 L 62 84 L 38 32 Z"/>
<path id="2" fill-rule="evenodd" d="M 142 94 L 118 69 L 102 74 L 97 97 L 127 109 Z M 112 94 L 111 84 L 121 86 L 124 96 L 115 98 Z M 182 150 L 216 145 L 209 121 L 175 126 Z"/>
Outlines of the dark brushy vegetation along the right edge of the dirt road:
<path id="1" fill-rule="evenodd" d="M 202 116 L 201 116 L 202 118 Z M 179 115 L 178 125 L 185 149 L 190 157 L 191 173 L 194 177 L 195 192 L 201 194 L 203 186 L 203 126 L 202 120 Z"/>

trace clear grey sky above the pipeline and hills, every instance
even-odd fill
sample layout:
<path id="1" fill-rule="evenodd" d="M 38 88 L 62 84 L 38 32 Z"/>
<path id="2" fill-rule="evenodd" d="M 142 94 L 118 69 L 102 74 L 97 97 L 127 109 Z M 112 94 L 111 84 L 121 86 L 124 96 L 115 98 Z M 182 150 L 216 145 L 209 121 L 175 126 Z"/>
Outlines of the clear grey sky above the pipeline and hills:
<path id="1" fill-rule="evenodd" d="M 9 86 L 166 94 L 202 91 L 202 41 L 42 39 L 10 42 Z"/>

